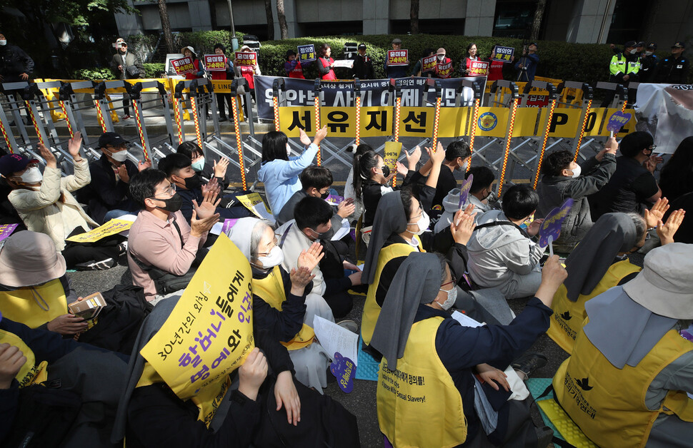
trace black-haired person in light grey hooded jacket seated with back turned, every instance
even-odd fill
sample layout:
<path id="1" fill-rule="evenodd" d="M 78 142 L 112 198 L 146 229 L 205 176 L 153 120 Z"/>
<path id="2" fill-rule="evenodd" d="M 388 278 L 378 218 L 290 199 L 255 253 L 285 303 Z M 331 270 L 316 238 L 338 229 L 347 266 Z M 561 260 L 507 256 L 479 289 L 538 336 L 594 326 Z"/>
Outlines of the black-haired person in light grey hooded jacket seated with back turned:
<path id="1" fill-rule="evenodd" d="M 539 195 L 529 185 L 513 185 L 503 195 L 503 210 L 489 210 L 477 218 L 477 229 L 467 244 L 469 274 L 481 287 L 496 287 L 508 299 L 527 297 L 542 282 L 539 260 L 544 250 L 532 237 L 543 220 L 527 230 L 520 227 L 534 214 Z"/>

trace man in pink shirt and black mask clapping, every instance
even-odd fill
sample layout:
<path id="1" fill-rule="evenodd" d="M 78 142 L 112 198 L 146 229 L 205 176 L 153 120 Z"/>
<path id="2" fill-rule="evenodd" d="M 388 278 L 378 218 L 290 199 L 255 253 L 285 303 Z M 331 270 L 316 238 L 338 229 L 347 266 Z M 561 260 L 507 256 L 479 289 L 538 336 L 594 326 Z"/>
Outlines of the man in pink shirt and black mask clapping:
<path id="1" fill-rule="evenodd" d="M 183 198 L 163 171 L 149 168 L 134 175 L 130 196 L 141 211 L 128 235 L 128 264 L 133 285 L 143 287 L 151 302 L 186 287 L 194 269 L 189 271 L 204 259 L 202 245 L 219 221 L 216 195 L 195 204 L 190 224 L 180 211 Z"/>

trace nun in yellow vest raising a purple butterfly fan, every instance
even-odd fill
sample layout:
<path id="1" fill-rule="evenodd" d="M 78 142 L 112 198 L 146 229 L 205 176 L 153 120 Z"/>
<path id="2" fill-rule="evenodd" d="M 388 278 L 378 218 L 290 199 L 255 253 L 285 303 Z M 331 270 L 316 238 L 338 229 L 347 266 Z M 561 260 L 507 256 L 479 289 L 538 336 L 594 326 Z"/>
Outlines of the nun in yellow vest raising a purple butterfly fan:
<path id="1" fill-rule="evenodd" d="M 508 399 L 509 383 L 499 369 L 549 327 L 549 306 L 565 276 L 554 256 L 534 297 L 510 325 L 462 327 L 447 311 L 456 279 L 446 260 L 439 254 L 409 255 L 387 292 L 371 340 L 383 355 L 378 422 L 392 446 L 546 446 L 552 433 L 535 429 L 528 399 Z M 424 380 L 399 381 L 396 372 Z M 475 375 L 489 387 L 482 388 Z"/>

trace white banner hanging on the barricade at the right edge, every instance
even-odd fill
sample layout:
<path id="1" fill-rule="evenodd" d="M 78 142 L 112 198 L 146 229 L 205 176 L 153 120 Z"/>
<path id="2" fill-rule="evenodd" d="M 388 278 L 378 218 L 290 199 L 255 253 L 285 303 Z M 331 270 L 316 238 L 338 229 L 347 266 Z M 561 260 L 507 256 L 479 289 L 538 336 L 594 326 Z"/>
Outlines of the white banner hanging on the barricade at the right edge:
<path id="1" fill-rule="evenodd" d="M 655 153 L 674 153 L 693 133 L 693 86 L 640 84 L 635 117 L 637 130 L 654 136 Z"/>

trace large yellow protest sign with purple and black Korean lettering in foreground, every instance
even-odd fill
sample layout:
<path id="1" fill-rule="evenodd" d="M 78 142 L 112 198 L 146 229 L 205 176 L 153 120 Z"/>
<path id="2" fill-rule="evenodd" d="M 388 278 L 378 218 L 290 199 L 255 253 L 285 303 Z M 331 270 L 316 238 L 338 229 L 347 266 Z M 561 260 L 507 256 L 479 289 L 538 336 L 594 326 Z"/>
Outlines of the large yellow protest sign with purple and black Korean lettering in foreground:
<path id="1" fill-rule="evenodd" d="M 164 325 L 140 354 L 180 399 L 193 399 L 209 425 L 229 373 L 253 350 L 252 273 L 219 235 Z"/>

